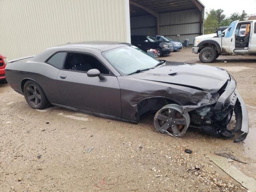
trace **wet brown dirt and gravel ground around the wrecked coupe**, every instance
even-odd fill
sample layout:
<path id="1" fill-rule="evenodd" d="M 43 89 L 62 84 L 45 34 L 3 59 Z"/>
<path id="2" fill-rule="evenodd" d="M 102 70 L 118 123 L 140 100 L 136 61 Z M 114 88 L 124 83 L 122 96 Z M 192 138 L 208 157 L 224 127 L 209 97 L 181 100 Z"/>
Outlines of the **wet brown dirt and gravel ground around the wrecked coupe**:
<path id="1" fill-rule="evenodd" d="M 191 48 L 164 59 L 200 63 Z M 231 153 L 248 164 L 230 164 L 256 179 L 256 57 L 220 56 L 211 65 L 238 82 L 250 118 L 245 142 L 192 129 L 182 138 L 165 136 L 152 116 L 130 124 L 58 107 L 34 110 L 8 84 L 0 85 L 0 191 L 247 191 L 208 157 Z M 188 172 L 195 167 L 200 170 Z"/>

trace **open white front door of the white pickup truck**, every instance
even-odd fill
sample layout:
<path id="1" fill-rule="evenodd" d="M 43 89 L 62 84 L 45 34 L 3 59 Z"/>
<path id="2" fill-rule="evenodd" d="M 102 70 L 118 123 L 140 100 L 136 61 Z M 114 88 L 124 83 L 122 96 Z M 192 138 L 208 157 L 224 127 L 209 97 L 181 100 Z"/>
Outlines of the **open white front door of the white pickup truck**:
<path id="1" fill-rule="evenodd" d="M 236 43 L 236 37 L 235 37 L 235 32 L 236 32 L 236 26 L 238 24 L 238 21 L 234 21 L 228 26 L 225 36 L 222 38 L 222 50 L 223 52 L 226 53 L 234 53 L 235 49 L 235 43 Z"/>

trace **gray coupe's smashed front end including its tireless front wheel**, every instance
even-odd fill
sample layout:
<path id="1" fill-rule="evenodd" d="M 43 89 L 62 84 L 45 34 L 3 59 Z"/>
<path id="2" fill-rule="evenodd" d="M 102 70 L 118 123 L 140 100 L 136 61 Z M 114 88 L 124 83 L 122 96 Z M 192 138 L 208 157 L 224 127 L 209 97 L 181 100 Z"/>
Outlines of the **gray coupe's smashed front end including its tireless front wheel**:
<path id="1" fill-rule="evenodd" d="M 234 142 L 243 141 L 249 130 L 246 104 L 236 90 L 232 76 L 216 94 L 212 94 L 208 104 L 199 108 L 166 105 L 156 113 L 154 124 L 158 132 L 176 137 L 183 136 L 188 127 L 218 138 L 232 138 L 238 133 Z"/>

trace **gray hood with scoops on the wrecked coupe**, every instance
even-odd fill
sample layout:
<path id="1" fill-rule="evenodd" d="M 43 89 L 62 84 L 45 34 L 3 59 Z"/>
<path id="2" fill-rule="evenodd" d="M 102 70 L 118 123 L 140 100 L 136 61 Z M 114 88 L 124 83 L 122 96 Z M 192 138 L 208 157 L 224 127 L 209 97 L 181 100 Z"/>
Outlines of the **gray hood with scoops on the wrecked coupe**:
<path id="1" fill-rule="evenodd" d="M 216 93 L 230 79 L 226 70 L 201 64 L 166 62 L 163 66 L 135 74 L 134 78 L 176 84 Z"/>

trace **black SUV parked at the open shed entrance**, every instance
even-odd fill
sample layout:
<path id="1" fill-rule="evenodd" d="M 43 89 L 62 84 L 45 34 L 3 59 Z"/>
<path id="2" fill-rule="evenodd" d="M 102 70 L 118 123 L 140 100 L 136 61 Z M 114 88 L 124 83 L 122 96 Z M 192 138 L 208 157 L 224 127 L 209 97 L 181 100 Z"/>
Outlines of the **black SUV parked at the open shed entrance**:
<path id="1" fill-rule="evenodd" d="M 157 50 L 156 57 L 169 55 L 173 50 L 173 48 L 170 48 L 168 44 L 157 41 L 153 36 L 132 35 L 131 41 L 133 45 L 145 52 L 147 52 L 149 49 Z"/>

